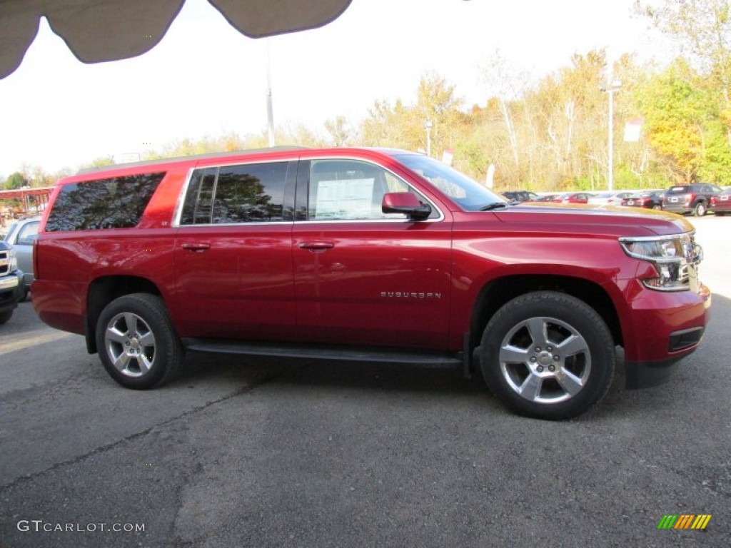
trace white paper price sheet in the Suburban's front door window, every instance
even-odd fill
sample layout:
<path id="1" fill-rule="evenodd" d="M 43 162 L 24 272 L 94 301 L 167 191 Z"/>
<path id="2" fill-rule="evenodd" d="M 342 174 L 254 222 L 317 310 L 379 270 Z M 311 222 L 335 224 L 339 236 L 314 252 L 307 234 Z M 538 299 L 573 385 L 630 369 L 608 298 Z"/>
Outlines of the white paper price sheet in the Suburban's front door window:
<path id="1" fill-rule="evenodd" d="M 371 218 L 375 179 L 321 180 L 317 219 Z"/>

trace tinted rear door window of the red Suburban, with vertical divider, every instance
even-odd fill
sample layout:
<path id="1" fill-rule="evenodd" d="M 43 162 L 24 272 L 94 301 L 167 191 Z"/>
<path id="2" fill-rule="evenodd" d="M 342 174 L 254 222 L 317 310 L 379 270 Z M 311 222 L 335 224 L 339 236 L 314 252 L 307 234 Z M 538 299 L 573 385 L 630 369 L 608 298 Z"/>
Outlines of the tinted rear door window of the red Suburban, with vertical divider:
<path id="1" fill-rule="evenodd" d="M 287 221 L 288 162 L 243 164 L 193 172 L 181 224 Z"/>

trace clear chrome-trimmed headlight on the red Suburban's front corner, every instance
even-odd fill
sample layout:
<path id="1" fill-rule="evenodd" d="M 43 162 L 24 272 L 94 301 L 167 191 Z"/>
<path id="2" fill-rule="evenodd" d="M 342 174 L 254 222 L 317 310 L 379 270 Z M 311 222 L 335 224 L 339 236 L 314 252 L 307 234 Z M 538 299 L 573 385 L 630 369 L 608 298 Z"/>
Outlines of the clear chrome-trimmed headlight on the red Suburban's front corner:
<path id="1" fill-rule="evenodd" d="M 658 291 L 687 291 L 695 267 L 702 260 L 702 249 L 692 233 L 670 236 L 623 237 L 619 243 L 624 252 L 635 259 L 651 262 L 657 276 L 644 278 L 649 289 Z M 692 272 L 691 272 L 692 270 Z"/>

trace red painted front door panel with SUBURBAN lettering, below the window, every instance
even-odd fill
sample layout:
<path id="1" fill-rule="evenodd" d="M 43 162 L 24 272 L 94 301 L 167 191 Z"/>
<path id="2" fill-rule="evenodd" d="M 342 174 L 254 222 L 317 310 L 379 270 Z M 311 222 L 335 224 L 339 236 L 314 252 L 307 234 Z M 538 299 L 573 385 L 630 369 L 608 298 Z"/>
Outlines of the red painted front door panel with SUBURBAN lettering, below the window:
<path id="1" fill-rule="evenodd" d="M 450 221 L 295 227 L 303 340 L 444 349 L 450 329 Z M 332 243 L 327 251 L 300 243 Z"/>

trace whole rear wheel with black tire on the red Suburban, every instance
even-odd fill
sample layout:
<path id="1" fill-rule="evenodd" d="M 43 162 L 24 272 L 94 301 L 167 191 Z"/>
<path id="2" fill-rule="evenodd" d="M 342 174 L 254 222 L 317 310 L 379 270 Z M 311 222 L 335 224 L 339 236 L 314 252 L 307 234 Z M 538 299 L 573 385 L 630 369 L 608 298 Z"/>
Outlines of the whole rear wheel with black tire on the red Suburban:
<path id="1" fill-rule="evenodd" d="M 104 308 L 96 322 L 96 348 L 107 373 L 132 389 L 162 386 L 184 357 L 164 302 L 147 293 L 118 297 Z"/>

